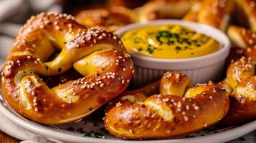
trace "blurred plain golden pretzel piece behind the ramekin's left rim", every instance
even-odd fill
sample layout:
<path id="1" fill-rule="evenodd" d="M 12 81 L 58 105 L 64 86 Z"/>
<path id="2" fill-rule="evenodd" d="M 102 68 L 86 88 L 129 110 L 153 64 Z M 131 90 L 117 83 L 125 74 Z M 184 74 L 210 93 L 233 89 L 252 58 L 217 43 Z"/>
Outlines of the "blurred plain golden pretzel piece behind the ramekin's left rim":
<path id="1" fill-rule="evenodd" d="M 199 0 L 151 0 L 141 6 L 140 21 L 181 19 Z"/>

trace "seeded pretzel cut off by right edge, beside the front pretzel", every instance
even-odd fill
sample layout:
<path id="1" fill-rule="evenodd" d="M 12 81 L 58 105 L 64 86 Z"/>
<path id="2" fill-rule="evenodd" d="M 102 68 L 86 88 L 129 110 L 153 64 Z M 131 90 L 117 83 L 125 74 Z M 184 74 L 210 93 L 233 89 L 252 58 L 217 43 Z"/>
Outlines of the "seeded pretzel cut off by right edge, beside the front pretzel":
<path id="1" fill-rule="evenodd" d="M 229 92 L 230 107 L 222 124 L 234 125 L 256 119 L 256 76 L 252 59 L 242 57 L 230 64 L 221 83 Z"/>

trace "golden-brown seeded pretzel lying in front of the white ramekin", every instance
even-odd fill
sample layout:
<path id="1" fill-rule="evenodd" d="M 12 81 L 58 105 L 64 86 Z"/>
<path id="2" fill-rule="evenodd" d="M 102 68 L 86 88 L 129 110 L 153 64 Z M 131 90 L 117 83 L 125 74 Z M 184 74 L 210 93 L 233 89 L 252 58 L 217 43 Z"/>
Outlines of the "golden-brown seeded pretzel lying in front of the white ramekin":
<path id="1" fill-rule="evenodd" d="M 104 123 L 110 134 L 123 139 L 176 137 L 215 124 L 229 109 L 227 92 L 218 84 L 189 88 L 186 74 L 167 72 L 160 94 L 146 97 L 143 91 L 155 91 L 156 84 L 125 93 L 108 107 Z"/>

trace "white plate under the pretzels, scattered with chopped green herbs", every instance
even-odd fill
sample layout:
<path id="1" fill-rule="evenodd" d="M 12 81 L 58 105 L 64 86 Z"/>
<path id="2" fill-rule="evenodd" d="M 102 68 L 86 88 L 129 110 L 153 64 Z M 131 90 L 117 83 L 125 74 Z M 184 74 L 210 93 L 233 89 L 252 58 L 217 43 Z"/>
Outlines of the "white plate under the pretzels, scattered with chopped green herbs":
<path id="1" fill-rule="evenodd" d="M 105 130 L 100 112 L 82 119 L 80 122 L 58 126 L 47 126 L 29 121 L 28 119 L 25 119 L 21 115 L 17 114 L 13 109 L 11 109 L 11 107 L 9 107 L 9 105 L 6 103 L 6 100 L 1 97 L 1 95 L 0 111 L 12 122 L 18 124 L 21 127 L 24 127 L 30 132 L 34 132 L 36 134 L 47 137 L 47 139 L 53 142 L 227 142 L 232 139 L 242 137 L 243 135 L 256 129 L 256 121 L 253 121 L 240 127 L 210 127 L 200 132 L 175 139 L 158 139 L 145 141 L 121 140 L 111 136 Z"/>

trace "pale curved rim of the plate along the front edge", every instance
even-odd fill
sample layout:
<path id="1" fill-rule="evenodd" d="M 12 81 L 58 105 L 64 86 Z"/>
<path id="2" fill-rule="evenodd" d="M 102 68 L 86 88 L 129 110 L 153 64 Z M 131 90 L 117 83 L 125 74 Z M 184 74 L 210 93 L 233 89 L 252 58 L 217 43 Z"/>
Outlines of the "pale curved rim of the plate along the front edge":
<path id="1" fill-rule="evenodd" d="M 4 116 L 10 119 L 11 122 L 14 122 L 20 127 L 24 127 L 24 129 L 27 129 L 30 132 L 34 132 L 35 134 L 39 134 L 41 136 L 47 137 L 48 139 L 54 139 L 54 140 L 57 139 L 60 142 L 91 142 L 91 143 L 94 143 L 94 142 L 105 142 L 105 143 L 158 142 L 158 143 L 164 143 L 164 142 L 200 142 L 200 141 L 205 141 L 207 139 L 212 139 L 212 138 L 214 138 L 214 140 L 209 140 L 209 142 L 227 142 L 232 139 L 242 137 L 243 135 L 249 132 L 252 132 L 256 129 L 256 120 L 255 120 L 247 124 L 243 124 L 242 126 L 225 130 L 223 132 L 209 134 L 201 137 L 181 138 L 181 139 L 155 139 L 155 140 L 98 139 L 93 137 L 79 137 L 72 134 L 65 134 L 62 132 L 54 131 L 52 129 L 48 129 L 47 127 L 41 127 L 37 124 L 32 124 L 30 122 L 25 121 L 24 119 L 19 118 L 16 114 L 12 113 L 10 109 L 8 109 L 8 107 L 4 106 L 3 102 L 0 103 L 0 111 L 4 114 Z"/>

